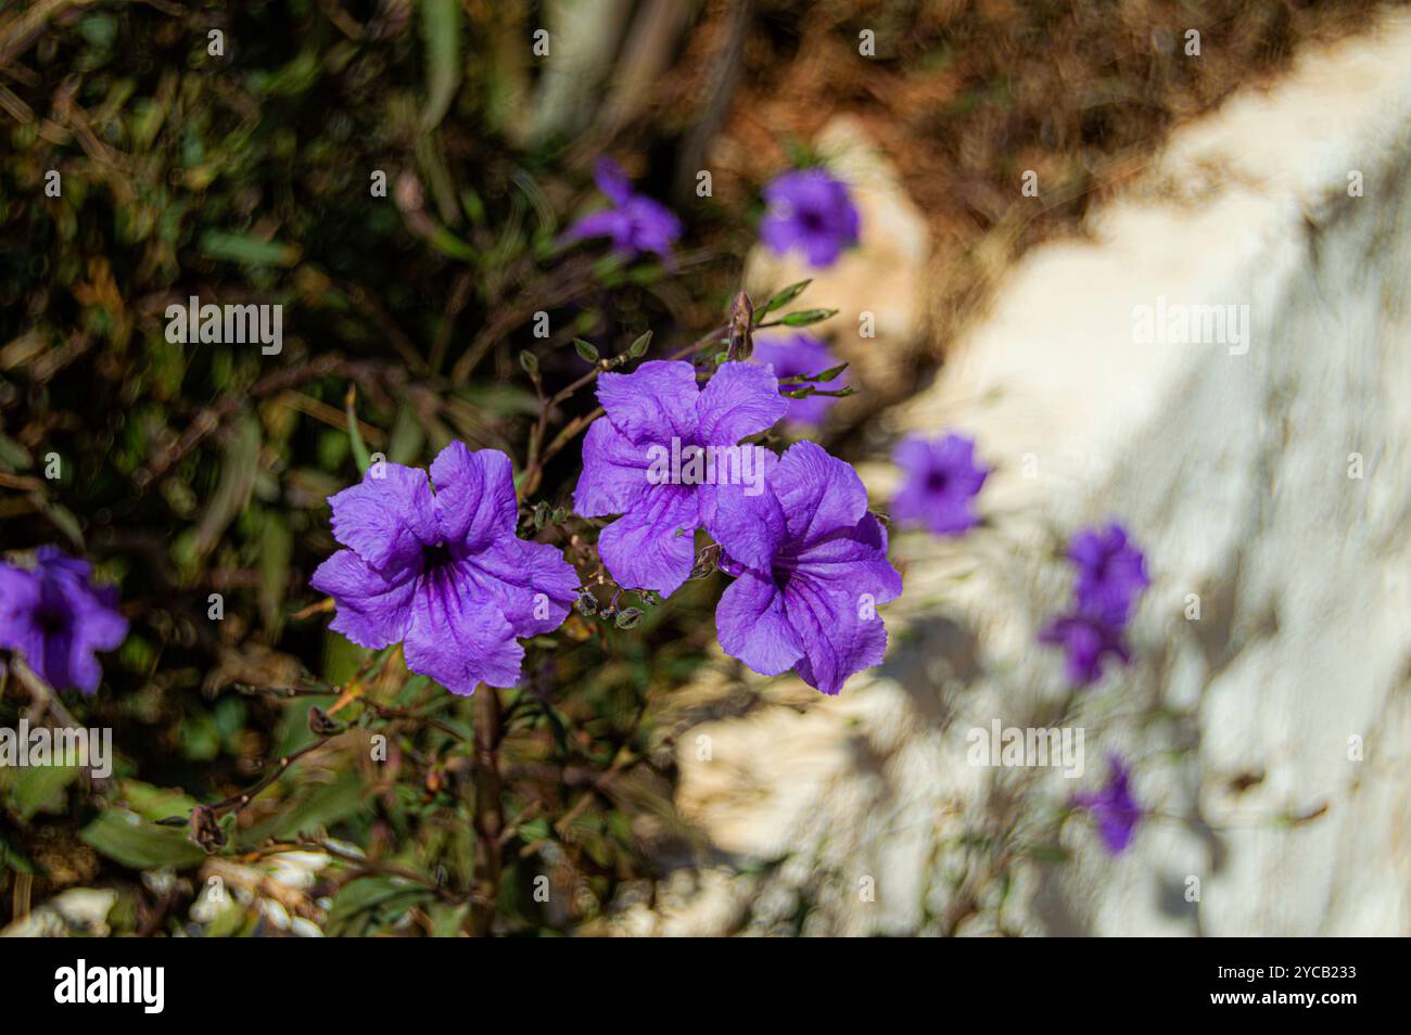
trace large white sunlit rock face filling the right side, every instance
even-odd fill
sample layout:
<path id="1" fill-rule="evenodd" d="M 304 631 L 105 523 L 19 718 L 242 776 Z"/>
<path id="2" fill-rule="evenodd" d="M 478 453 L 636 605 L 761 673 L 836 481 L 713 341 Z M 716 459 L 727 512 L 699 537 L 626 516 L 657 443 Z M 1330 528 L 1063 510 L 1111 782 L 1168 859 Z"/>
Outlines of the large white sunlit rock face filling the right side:
<path id="1" fill-rule="evenodd" d="M 1178 131 L 1091 240 L 1031 252 L 883 420 L 975 437 L 988 527 L 895 537 L 883 668 L 832 699 L 761 682 L 762 708 L 677 735 L 679 807 L 721 859 L 631 929 L 1405 933 L 1408 171 L 1393 18 Z M 885 505 L 895 471 L 864 475 Z M 1113 516 L 1151 587 L 1134 664 L 1070 701 L 1084 774 L 971 764 L 969 730 L 1068 701 L 1036 643 L 1070 589 L 1054 551 Z M 1057 822 L 1108 750 L 1146 809 L 1116 857 Z"/>

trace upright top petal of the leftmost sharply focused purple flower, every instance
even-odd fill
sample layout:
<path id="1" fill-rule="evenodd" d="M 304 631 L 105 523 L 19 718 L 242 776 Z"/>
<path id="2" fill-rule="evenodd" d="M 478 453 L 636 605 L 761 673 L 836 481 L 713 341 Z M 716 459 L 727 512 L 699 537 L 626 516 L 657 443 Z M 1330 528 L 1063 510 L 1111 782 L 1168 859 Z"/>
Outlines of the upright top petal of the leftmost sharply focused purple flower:
<path id="1" fill-rule="evenodd" d="M 442 541 L 474 551 L 515 534 L 515 472 L 499 450 L 471 453 L 453 441 L 432 461 L 432 479 Z"/>

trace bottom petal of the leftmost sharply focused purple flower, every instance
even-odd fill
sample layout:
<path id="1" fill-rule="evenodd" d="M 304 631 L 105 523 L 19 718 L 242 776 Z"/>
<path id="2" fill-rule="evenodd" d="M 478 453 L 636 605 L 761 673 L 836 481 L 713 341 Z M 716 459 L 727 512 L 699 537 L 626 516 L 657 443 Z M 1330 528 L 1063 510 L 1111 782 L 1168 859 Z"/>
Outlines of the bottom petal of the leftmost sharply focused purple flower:
<path id="1" fill-rule="evenodd" d="M 404 647 L 408 668 L 461 695 L 515 685 L 525 656 L 498 602 L 457 565 L 416 580 Z"/>

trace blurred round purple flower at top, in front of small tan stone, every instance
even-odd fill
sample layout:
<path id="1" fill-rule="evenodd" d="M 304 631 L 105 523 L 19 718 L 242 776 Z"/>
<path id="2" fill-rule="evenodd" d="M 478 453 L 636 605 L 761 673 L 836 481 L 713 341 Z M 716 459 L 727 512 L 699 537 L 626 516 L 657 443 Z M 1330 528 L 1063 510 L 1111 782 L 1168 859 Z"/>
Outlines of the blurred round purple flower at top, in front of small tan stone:
<path id="1" fill-rule="evenodd" d="M 765 200 L 769 213 L 759 223 L 759 238 L 779 255 L 799 250 L 821 269 L 858 243 L 858 210 L 848 188 L 825 169 L 779 173 L 765 188 Z"/>

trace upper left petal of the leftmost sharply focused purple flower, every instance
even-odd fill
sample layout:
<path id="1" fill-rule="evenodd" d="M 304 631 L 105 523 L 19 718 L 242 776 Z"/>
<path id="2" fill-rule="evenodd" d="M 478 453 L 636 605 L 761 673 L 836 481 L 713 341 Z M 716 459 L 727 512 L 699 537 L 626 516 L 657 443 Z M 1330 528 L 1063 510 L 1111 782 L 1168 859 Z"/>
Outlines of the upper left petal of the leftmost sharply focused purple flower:
<path id="1" fill-rule="evenodd" d="M 329 503 L 334 539 L 378 571 L 412 567 L 422 547 L 439 537 L 432 489 L 419 468 L 374 464 L 360 484 Z"/>

